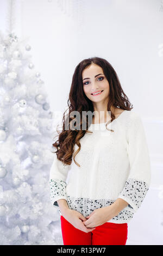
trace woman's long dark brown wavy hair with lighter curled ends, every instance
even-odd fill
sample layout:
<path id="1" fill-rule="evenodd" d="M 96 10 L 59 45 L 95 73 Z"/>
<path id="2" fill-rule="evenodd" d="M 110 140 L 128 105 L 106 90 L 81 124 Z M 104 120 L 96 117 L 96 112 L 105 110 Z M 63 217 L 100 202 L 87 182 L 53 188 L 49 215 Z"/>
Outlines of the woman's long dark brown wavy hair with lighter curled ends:
<path id="1" fill-rule="evenodd" d="M 58 132 L 58 139 L 53 143 L 53 147 L 57 148 L 57 151 L 54 153 L 57 154 L 57 158 L 64 163 L 64 165 L 68 164 L 70 165 L 72 162 L 72 156 L 73 156 L 73 151 L 74 151 L 74 145 L 78 145 L 78 150 L 73 156 L 74 157 L 79 153 L 81 145 L 80 145 L 80 138 L 82 138 L 86 132 L 92 133 L 89 131 L 89 120 L 86 115 L 83 116 L 83 111 L 91 111 L 93 115 L 93 104 L 90 99 L 88 99 L 84 93 L 83 90 L 83 79 L 82 79 L 82 72 L 85 68 L 87 68 L 89 65 L 92 63 L 101 66 L 103 69 L 104 75 L 106 79 L 109 82 L 109 96 L 108 96 L 108 111 L 111 113 L 111 121 L 106 123 L 106 126 L 111 123 L 115 119 L 114 113 L 111 112 L 111 106 L 112 107 L 119 107 L 124 110 L 130 111 L 133 108 L 133 105 L 130 104 L 129 99 L 127 95 L 123 92 L 123 89 L 121 87 L 121 83 L 118 79 L 118 76 L 116 74 L 116 71 L 114 68 L 112 68 L 111 64 L 99 57 L 92 57 L 92 58 L 87 58 L 82 60 L 80 62 L 73 74 L 72 77 L 72 83 L 71 83 L 71 88 L 70 88 L 70 93 L 68 97 L 68 115 L 67 117 L 65 116 L 64 112 L 63 118 L 62 118 L 62 129 L 60 132 Z M 67 129 L 68 127 L 71 127 L 70 122 L 75 119 L 74 117 L 71 117 L 71 112 L 72 111 L 78 111 L 80 113 L 80 122 L 77 124 L 76 127 L 78 129 L 72 130 L 72 129 Z M 84 112 L 84 113 L 85 113 Z M 83 118 L 82 118 L 83 117 Z M 83 121 L 84 120 L 84 121 Z M 86 130 L 82 129 L 82 123 L 85 123 Z M 106 127 L 107 129 L 107 127 Z M 107 129 L 108 130 L 108 129 Z M 111 132 L 114 132 L 113 130 L 110 130 Z M 80 165 L 74 160 L 74 162 L 80 167 Z"/>

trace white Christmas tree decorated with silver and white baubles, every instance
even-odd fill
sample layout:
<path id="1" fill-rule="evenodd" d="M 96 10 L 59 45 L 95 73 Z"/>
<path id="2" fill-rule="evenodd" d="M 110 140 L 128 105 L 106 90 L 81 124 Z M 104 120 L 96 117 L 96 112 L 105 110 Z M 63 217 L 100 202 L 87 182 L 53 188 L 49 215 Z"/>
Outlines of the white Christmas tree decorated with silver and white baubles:
<path id="1" fill-rule="evenodd" d="M 0 244 L 62 245 L 48 180 L 54 115 L 24 41 L 0 34 Z"/>

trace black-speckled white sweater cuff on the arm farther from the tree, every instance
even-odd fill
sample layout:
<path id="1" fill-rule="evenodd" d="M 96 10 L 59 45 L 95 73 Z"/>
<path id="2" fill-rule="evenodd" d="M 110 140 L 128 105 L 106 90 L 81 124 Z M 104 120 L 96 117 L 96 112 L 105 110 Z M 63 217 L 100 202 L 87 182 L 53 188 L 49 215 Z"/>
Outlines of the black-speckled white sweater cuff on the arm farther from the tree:
<path id="1" fill-rule="evenodd" d="M 136 179 L 127 179 L 126 184 L 118 198 L 122 198 L 129 205 L 125 208 L 131 212 L 136 212 L 146 196 L 148 191 L 148 184 L 145 181 L 138 181 Z"/>

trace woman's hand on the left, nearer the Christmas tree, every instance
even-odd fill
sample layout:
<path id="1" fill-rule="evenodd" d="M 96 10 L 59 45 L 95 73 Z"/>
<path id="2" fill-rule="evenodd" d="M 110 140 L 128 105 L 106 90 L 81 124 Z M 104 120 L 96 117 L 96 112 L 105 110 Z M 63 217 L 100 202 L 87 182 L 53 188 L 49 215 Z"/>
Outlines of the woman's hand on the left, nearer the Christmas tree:
<path id="1" fill-rule="evenodd" d="M 83 221 L 86 221 L 87 219 L 76 210 L 66 208 L 64 209 L 64 211 L 61 212 L 61 214 L 68 222 L 70 222 L 73 225 L 73 227 L 82 230 L 85 233 L 88 233 L 95 229 L 89 227 L 87 228 L 83 223 Z"/>

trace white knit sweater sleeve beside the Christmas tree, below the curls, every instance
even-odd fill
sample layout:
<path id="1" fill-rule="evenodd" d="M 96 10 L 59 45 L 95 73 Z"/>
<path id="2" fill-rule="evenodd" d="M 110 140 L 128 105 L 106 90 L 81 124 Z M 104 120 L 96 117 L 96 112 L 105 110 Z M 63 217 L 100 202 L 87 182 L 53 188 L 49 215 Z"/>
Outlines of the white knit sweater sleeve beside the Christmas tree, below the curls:
<path id="1" fill-rule="evenodd" d="M 64 164 L 57 158 L 57 154 L 54 153 L 54 160 L 50 169 L 49 174 L 49 187 L 50 187 L 50 197 L 51 203 L 54 208 L 59 210 L 59 205 L 57 200 L 65 199 L 67 200 L 66 194 L 66 179 L 68 171 L 71 166 Z"/>

